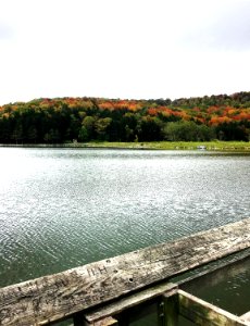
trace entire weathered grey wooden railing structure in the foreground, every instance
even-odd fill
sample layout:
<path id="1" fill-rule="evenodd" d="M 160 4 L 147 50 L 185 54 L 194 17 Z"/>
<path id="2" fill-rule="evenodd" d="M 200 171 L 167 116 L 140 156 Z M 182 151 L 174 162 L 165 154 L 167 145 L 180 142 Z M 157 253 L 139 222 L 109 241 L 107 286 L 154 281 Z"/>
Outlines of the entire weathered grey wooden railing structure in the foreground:
<path id="1" fill-rule="evenodd" d="M 177 325 L 179 314 L 199 325 L 249 325 L 167 283 L 248 248 L 250 218 L 9 286 L 0 289 L 0 325 L 127 325 L 133 308 L 152 301 L 159 325 Z"/>

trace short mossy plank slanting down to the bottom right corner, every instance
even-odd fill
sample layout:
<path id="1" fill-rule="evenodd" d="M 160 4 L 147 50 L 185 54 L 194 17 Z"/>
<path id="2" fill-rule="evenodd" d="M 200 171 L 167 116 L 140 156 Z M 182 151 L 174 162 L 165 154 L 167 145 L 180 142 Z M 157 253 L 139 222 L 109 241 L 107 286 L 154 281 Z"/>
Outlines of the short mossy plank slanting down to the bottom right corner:
<path id="1" fill-rule="evenodd" d="M 248 326 L 240 317 L 230 314 L 183 290 L 178 290 L 179 314 L 201 326 Z"/>

